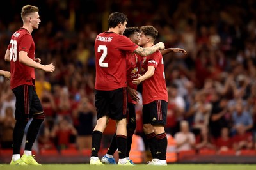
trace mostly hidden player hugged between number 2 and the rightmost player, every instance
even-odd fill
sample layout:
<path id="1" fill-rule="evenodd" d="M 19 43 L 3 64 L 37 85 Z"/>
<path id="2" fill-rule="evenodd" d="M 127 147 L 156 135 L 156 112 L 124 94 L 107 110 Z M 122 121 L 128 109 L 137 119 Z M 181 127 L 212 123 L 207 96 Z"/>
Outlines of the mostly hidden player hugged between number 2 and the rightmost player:
<path id="1" fill-rule="evenodd" d="M 123 33 L 124 36 L 129 38 L 132 42 L 138 44 L 140 39 L 140 29 L 138 27 L 127 27 Z M 139 67 L 140 67 L 140 55 L 134 52 L 127 52 L 127 91 L 128 91 L 128 109 L 127 109 L 127 151 L 126 159 L 129 160 L 131 164 L 134 164 L 132 160 L 129 159 L 129 153 L 131 150 L 132 136 L 136 129 L 136 112 L 135 104 L 138 102 L 138 92 L 137 84 L 133 84 L 132 80 L 138 77 Z M 101 162 L 105 164 L 116 164 L 115 158 L 113 157 L 116 146 L 116 134 L 113 135 L 113 139 L 109 146 L 108 152 L 104 157 L 102 157 Z"/>

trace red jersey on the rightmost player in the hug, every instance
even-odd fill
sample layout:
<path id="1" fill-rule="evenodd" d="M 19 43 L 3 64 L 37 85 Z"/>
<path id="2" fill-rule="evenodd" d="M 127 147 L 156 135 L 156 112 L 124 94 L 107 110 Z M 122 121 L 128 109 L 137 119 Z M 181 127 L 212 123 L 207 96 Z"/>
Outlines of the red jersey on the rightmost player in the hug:
<path id="1" fill-rule="evenodd" d="M 149 104 L 155 100 L 165 100 L 168 102 L 168 94 L 164 75 L 164 61 L 163 56 L 159 50 L 150 56 L 147 56 L 143 68 L 147 66 L 154 66 L 155 72 L 152 77 L 142 82 L 143 104 Z M 145 68 L 145 70 L 147 70 L 147 68 Z"/>

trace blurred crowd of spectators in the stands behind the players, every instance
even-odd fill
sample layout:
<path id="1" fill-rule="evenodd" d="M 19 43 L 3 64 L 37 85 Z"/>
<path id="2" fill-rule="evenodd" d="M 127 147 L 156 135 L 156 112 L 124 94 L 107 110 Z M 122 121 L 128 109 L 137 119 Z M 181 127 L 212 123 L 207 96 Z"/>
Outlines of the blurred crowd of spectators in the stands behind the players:
<path id="1" fill-rule="evenodd" d="M 118 11 L 127 15 L 128 27 L 152 25 L 159 31 L 156 42 L 188 52 L 164 56 L 166 132 L 174 137 L 177 150 L 256 150 L 255 1 L 31 2 L 39 7 L 42 20 L 32 33 L 35 56 L 56 66 L 54 73 L 36 70 L 36 91 L 46 116 L 39 148 L 90 148 L 96 119 L 94 40 L 108 29 L 109 12 Z M 24 5 L 6 3 L 15 7 L 8 18 L 0 15 L 1 70 L 10 70 L 4 53 L 12 33 L 22 26 Z M 3 77 L 0 89 L 0 147 L 12 148 L 15 98 Z M 136 110 L 136 133 L 142 134 L 141 102 Z"/>

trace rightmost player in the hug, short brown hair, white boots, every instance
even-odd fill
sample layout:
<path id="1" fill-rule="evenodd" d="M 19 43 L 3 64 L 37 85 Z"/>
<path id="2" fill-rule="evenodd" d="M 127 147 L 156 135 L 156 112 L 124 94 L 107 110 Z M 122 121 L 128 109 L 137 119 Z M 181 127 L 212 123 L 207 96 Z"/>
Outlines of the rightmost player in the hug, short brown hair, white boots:
<path id="1" fill-rule="evenodd" d="M 141 39 L 139 45 L 151 47 L 154 45 L 158 31 L 153 26 L 142 26 L 140 28 Z M 168 104 L 168 94 L 166 89 L 164 63 L 161 52 L 143 59 L 145 68 L 144 75 L 134 79 L 134 84 L 143 81 L 143 130 L 147 135 L 148 146 L 152 153 L 152 161 L 148 164 L 166 165 L 167 137 L 164 131 L 166 125 L 166 114 Z"/>

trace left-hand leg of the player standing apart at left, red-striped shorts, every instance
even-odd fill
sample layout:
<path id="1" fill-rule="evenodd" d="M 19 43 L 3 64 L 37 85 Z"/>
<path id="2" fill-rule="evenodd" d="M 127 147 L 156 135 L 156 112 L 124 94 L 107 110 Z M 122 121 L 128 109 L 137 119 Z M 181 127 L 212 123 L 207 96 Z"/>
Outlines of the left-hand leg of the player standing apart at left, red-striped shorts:
<path id="1" fill-rule="evenodd" d="M 13 89 L 16 97 L 15 119 L 16 123 L 13 129 L 13 155 L 12 165 L 25 165 L 20 159 L 20 147 L 24 135 L 24 129 L 29 119 L 29 94 L 28 85 L 18 86 Z"/>

